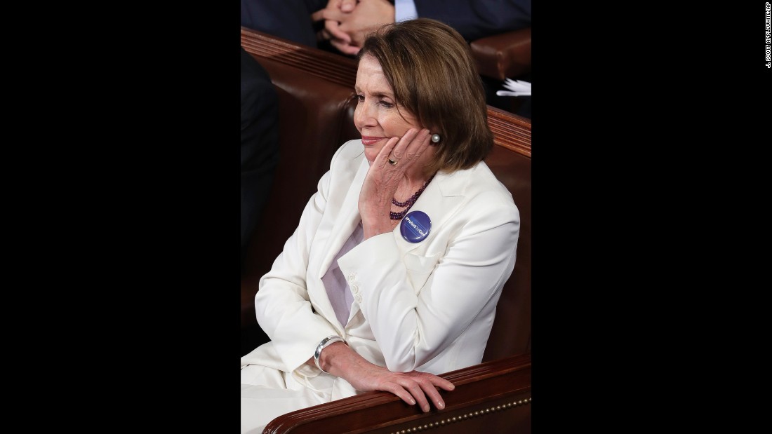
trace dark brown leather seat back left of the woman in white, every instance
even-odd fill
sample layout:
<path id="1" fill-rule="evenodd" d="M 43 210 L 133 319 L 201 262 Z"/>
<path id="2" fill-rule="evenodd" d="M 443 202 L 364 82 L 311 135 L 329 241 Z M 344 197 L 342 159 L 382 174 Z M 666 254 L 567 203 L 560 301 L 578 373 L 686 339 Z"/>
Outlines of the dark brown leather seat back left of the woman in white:
<path id="1" fill-rule="evenodd" d="M 361 135 L 354 126 L 354 59 L 246 28 L 242 47 L 266 68 L 279 95 L 279 164 L 242 270 L 244 355 L 266 339 L 255 316 L 259 279 L 293 234 L 335 150 Z"/>

